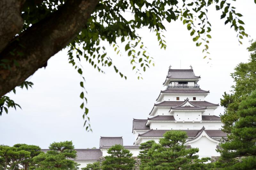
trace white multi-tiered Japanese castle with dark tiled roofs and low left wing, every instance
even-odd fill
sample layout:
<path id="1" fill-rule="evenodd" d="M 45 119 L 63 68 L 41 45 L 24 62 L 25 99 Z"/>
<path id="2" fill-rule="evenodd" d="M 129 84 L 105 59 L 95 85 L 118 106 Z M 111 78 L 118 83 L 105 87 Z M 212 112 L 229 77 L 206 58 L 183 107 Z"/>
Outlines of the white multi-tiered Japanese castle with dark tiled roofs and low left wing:
<path id="1" fill-rule="evenodd" d="M 182 130 L 187 132 L 187 148 L 199 148 L 198 155 L 202 157 L 219 156 L 216 152 L 220 139 L 227 134 L 221 130 L 223 125 L 220 117 L 214 115 L 219 104 L 205 100 L 209 91 L 200 88 L 200 76 L 194 71 L 177 70 L 169 67 L 168 74 L 161 91 L 149 115 L 145 119 L 133 119 L 132 133 L 134 143 L 124 146 L 133 156 L 140 152 L 139 145 L 148 140 L 158 140 L 168 130 Z M 77 149 L 77 161 L 81 167 L 97 161 L 107 155 L 112 145 L 123 145 L 122 137 L 100 137 L 99 149 Z"/>

